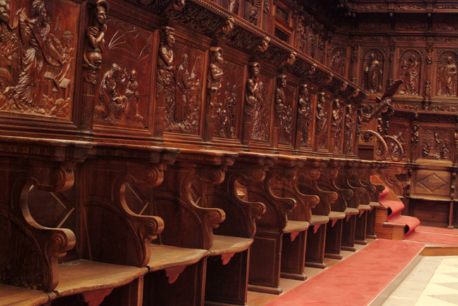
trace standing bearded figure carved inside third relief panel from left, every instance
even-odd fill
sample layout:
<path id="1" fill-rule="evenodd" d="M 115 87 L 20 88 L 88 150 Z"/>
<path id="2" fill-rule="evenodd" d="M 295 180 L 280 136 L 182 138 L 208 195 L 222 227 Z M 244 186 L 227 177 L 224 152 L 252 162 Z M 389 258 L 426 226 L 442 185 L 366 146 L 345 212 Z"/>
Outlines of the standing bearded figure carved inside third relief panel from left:
<path id="1" fill-rule="evenodd" d="M 199 60 L 199 58 L 197 58 Z M 192 87 L 192 84 L 196 77 L 196 63 L 192 68 L 191 73 L 188 70 L 189 67 L 189 58 L 185 53 L 182 58 L 182 62 L 180 66 L 178 66 L 177 74 L 176 74 L 176 82 L 177 82 L 177 95 L 175 100 L 175 120 L 180 122 L 185 119 L 188 112 L 192 111 L 192 106 L 190 105 L 190 96 L 189 89 Z"/>

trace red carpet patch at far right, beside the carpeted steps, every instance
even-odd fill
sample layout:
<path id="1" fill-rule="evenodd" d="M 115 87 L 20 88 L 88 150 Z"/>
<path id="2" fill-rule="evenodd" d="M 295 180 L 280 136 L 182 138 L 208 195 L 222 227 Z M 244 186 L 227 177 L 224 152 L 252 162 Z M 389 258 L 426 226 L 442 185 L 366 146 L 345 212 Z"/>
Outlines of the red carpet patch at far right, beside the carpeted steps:
<path id="1" fill-rule="evenodd" d="M 458 246 L 458 229 L 441 229 L 438 227 L 417 227 L 414 232 L 404 236 L 404 239 L 429 243 Z"/>

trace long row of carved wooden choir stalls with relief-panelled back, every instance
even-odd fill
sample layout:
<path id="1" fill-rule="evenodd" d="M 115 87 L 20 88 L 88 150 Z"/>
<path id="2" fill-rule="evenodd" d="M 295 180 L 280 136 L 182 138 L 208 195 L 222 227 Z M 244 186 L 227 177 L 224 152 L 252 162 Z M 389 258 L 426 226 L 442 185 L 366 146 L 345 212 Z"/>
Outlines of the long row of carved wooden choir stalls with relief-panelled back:
<path id="1" fill-rule="evenodd" d="M 376 238 L 370 177 L 392 175 L 379 155 L 399 162 L 409 137 L 388 148 L 361 125 L 388 116 L 392 94 L 366 100 L 391 62 L 331 39 L 310 10 L 0 0 L 0 305 L 246 305 Z M 418 90 L 422 58 L 397 58 L 400 93 Z M 452 160 L 427 125 L 437 144 L 405 152 Z M 384 146 L 376 160 L 359 159 L 360 136 Z"/>

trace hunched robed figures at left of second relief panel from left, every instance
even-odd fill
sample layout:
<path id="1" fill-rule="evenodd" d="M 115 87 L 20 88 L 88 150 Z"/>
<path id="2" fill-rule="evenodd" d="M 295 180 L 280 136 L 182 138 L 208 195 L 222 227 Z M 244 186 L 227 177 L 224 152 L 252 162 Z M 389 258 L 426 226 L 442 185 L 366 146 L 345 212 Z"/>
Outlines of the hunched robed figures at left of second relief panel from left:
<path id="1" fill-rule="evenodd" d="M 101 80 L 99 103 L 94 108 L 94 114 L 109 122 L 117 122 L 125 113 L 128 97 L 120 94 L 120 85 L 125 84 L 126 72 L 116 63 L 111 65 Z"/>

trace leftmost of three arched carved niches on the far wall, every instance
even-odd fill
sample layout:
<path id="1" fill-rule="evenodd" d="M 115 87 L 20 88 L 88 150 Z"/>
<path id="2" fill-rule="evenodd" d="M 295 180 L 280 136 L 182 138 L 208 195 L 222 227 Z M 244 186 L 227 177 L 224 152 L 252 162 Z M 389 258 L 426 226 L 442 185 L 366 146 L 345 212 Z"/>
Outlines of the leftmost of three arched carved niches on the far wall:
<path id="1" fill-rule="evenodd" d="M 369 94 L 379 94 L 383 91 L 383 66 L 385 56 L 379 49 L 369 49 L 362 60 L 362 87 Z"/>

